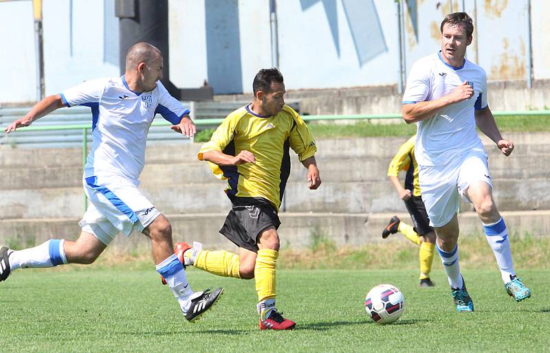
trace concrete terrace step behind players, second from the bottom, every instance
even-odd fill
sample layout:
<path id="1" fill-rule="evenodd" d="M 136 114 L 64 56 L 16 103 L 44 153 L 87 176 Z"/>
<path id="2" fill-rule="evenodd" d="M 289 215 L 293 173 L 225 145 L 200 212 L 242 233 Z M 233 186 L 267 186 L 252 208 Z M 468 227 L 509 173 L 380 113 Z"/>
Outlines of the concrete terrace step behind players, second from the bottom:
<path id="1" fill-rule="evenodd" d="M 177 179 L 175 179 L 177 180 Z M 217 183 L 172 183 L 144 185 L 144 194 L 166 214 L 226 212 L 230 208 Z M 494 181 L 494 198 L 501 211 L 550 209 L 550 179 L 500 179 Z M 399 212 L 405 210 L 387 181 L 327 181 L 309 190 L 306 181 L 289 182 L 281 205 L 286 212 Z M 292 197 L 291 197 L 292 196 Z M 0 219 L 80 217 L 83 214 L 82 187 L 4 190 L 0 198 Z M 472 206 L 463 203 L 463 210 Z"/>

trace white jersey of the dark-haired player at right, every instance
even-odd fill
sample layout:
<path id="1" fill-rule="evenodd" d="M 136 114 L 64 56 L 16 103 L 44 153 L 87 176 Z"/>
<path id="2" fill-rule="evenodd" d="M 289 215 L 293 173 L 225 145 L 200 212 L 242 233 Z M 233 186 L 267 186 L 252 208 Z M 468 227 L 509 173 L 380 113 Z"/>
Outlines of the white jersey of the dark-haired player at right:
<path id="1" fill-rule="evenodd" d="M 439 52 L 412 65 L 403 104 L 437 100 L 464 81 L 474 87 L 472 98 L 445 106 L 417 123 L 415 152 L 420 166 L 441 166 L 470 150 L 485 152 L 476 132 L 474 110 L 487 107 L 487 75 L 468 60 L 462 67 L 452 67 Z"/>

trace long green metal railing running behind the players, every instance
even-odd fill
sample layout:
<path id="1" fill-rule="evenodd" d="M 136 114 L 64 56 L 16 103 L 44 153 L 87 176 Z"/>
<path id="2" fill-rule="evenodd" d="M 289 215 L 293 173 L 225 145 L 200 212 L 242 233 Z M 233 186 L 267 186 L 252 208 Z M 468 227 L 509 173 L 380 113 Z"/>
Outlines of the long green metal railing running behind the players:
<path id="1" fill-rule="evenodd" d="M 544 111 L 494 111 L 494 116 L 503 115 L 518 115 L 518 116 L 535 116 L 535 115 L 550 115 L 550 110 Z M 302 115 L 306 122 L 321 121 L 321 120 L 368 120 L 368 119 L 401 119 L 401 114 L 355 114 L 355 115 Z M 197 126 L 212 126 L 221 124 L 223 119 L 205 118 L 195 119 Z M 170 126 L 165 120 L 153 121 L 152 126 Z M 86 157 L 88 155 L 88 130 L 91 129 L 91 124 L 72 124 L 72 125 L 50 125 L 50 126 L 28 126 L 23 128 L 25 131 L 49 131 L 49 130 L 80 130 L 82 129 L 82 165 L 86 165 Z M 17 133 L 17 131 L 16 131 Z M 87 198 L 84 196 L 84 209 L 88 207 Z"/>

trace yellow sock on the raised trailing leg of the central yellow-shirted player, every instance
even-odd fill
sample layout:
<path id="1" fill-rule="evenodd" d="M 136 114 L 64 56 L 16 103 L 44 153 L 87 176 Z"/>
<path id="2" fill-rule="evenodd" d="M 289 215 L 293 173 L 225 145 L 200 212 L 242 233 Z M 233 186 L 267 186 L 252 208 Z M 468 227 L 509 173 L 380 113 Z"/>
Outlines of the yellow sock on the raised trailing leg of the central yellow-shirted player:
<path id="1" fill-rule="evenodd" d="M 187 251 L 186 253 L 190 252 Z M 201 250 L 193 264 L 197 269 L 214 273 L 214 275 L 234 278 L 241 278 L 241 273 L 239 273 L 240 265 L 239 255 L 225 250 Z"/>

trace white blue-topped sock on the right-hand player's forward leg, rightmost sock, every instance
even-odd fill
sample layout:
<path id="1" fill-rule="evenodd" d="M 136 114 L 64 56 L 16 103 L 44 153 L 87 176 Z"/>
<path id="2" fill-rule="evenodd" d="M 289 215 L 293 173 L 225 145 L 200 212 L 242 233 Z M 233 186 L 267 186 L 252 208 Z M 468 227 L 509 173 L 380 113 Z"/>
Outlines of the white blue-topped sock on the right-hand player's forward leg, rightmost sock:
<path id="1" fill-rule="evenodd" d="M 507 284 L 510 282 L 510 276 L 516 275 L 514 271 L 514 262 L 511 260 L 510 242 L 508 241 L 508 231 L 504 218 L 500 218 L 498 222 L 490 225 L 483 225 L 485 231 L 485 238 L 493 249 L 496 263 L 500 269 L 500 276 L 503 282 Z"/>

